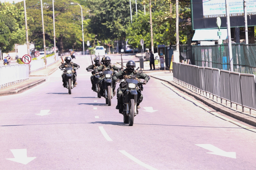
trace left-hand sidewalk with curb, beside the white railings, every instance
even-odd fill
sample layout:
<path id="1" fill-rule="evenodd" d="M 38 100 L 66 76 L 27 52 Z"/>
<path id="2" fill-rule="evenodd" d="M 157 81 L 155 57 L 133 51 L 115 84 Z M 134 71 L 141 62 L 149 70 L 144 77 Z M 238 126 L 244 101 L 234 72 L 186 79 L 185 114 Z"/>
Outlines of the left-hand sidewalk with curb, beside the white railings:
<path id="1" fill-rule="evenodd" d="M 24 90 L 27 90 L 29 88 L 32 88 L 38 84 L 41 84 L 45 82 L 44 76 L 49 76 L 56 70 L 58 70 L 59 66 L 61 65 L 61 60 L 56 61 L 56 63 L 48 66 L 46 69 L 41 69 L 38 71 L 31 72 L 29 74 L 29 79 L 20 83 L 17 83 L 15 85 L 10 85 L 4 88 L 0 89 L 0 96 L 7 96 L 7 95 L 13 95 L 17 93 L 21 93 Z M 42 77 L 42 78 L 36 78 L 36 77 Z"/>

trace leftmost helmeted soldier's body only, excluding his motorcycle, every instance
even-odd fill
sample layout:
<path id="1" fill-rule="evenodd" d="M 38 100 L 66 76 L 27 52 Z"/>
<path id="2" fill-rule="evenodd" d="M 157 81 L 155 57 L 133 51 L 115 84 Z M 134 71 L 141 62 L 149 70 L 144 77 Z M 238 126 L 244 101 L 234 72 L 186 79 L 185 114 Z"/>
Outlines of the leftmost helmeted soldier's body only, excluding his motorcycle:
<path id="1" fill-rule="evenodd" d="M 74 70 L 74 67 L 77 67 L 77 68 L 80 68 L 80 66 L 76 63 L 73 63 L 71 62 L 71 57 L 65 57 L 65 63 L 61 62 L 61 66 L 59 67 L 60 69 L 63 69 L 63 68 L 67 68 L 67 67 L 72 67 L 73 70 L 72 70 L 72 73 L 73 73 L 73 76 L 74 76 L 74 81 L 73 81 L 73 85 L 74 87 L 76 87 L 77 85 L 77 73 L 76 71 Z M 66 87 L 66 82 L 65 82 L 65 79 L 64 79 L 64 76 L 65 76 L 66 73 L 62 73 L 61 77 L 62 77 L 62 82 L 63 82 L 63 86 Z"/>

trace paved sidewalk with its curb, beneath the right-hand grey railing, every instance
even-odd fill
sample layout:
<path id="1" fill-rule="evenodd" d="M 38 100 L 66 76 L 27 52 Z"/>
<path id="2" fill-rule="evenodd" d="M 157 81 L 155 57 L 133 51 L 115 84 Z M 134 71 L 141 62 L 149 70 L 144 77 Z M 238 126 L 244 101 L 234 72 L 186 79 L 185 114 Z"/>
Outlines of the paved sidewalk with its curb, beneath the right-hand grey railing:
<path id="1" fill-rule="evenodd" d="M 252 126 L 256 126 L 256 111 L 252 111 L 252 114 L 250 115 L 250 110 L 247 108 L 244 108 L 244 110 L 245 110 L 244 112 L 242 112 L 241 106 L 238 106 L 238 110 L 236 110 L 235 104 L 233 104 L 233 107 L 230 108 L 229 107 L 230 102 L 227 102 L 227 106 L 226 106 L 226 100 L 224 100 L 224 99 L 223 99 L 223 103 L 221 103 L 220 99 L 217 100 L 216 97 L 214 98 L 214 100 L 212 100 L 212 97 L 210 98 L 209 96 L 199 94 L 190 88 L 179 85 L 173 81 L 173 73 L 170 73 L 169 71 L 150 72 L 150 73 L 148 73 L 148 75 L 150 77 L 154 77 L 155 79 L 159 79 L 159 80 L 167 82 L 171 86 L 174 86 L 175 88 L 185 92 L 186 94 L 193 96 L 196 100 L 203 102 L 204 104 L 206 104 L 207 106 L 213 108 L 214 110 L 216 110 L 218 112 L 226 114 L 230 117 L 233 117 L 234 119 L 245 122 Z M 234 122 L 232 122 L 232 123 L 234 123 Z"/>

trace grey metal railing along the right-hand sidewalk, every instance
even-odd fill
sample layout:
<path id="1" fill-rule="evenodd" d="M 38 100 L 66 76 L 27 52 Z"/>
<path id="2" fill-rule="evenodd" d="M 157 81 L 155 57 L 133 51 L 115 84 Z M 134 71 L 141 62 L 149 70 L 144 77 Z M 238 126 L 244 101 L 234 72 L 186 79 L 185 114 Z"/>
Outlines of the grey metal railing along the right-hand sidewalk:
<path id="1" fill-rule="evenodd" d="M 256 76 L 209 67 L 198 67 L 190 64 L 173 62 L 173 79 L 200 94 L 203 92 L 222 100 L 256 111 Z"/>

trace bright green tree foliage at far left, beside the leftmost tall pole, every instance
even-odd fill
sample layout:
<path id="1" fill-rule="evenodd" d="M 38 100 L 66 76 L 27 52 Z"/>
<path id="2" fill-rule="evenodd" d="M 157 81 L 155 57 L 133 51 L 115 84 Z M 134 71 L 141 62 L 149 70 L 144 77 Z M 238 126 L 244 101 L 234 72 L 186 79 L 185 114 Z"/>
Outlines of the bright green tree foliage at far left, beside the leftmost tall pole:
<path id="1" fill-rule="evenodd" d="M 0 2 L 0 47 L 9 52 L 14 44 L 26 41 L 24 8 L 20 5 Z"/>

